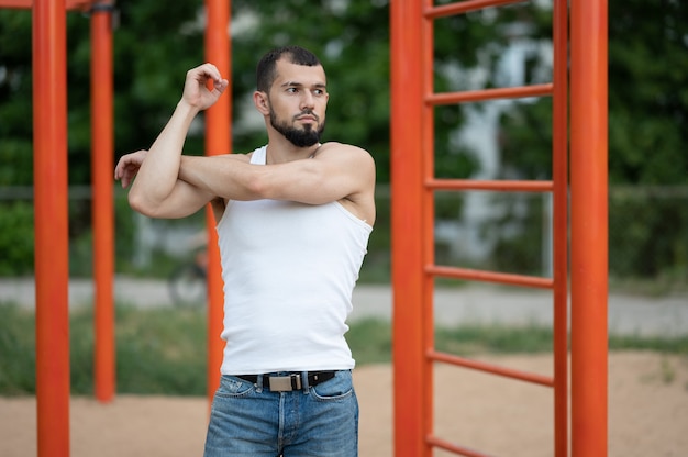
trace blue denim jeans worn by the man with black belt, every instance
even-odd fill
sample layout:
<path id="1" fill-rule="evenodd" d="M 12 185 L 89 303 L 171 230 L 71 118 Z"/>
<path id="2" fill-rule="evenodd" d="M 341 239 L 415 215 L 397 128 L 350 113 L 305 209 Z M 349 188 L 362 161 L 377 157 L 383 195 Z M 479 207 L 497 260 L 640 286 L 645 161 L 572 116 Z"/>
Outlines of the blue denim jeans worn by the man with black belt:
<path id="1" fill-rule="evenodd" d="M 210 412 L 204 457 L 280 455 L 358 455 L 358 400 L 351 370 L 290 392 L 271 392 L 262 379 L 253 384 L 222 376 Z"/>

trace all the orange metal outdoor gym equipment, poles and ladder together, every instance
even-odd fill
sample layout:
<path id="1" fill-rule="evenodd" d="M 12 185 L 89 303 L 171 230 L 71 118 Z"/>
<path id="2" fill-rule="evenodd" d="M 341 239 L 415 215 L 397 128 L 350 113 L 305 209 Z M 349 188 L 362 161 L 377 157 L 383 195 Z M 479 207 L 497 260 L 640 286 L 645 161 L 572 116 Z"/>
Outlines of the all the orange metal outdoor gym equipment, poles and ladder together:
<path id="1" fill-rule="evenodd" d="M 432 366 L 447 363 L 554 390 L 553 454 L 607 455 L 607 0 L 554 2 L 552 83 L 476 92 L 434 93 L 432 21 L 521 0 L 392 0 L 392 249 L 395 288 L 395 454 L 429 456 L 434 447 L 464 456 L 477 450 L 433 434 Z M 67 10 L 91 14 L 93 233 L 96 282 L 96 397 L 114 395 L 112 31 L 114 0 L 0 0 L 0 8 L 32 8 L 34 71 L 34 189 L 36 277 L 36 395 L 38 456 L 69 455 L 69 321 L 67 232 Z M 229 0 L 206 0 L 206 58 L 231 77 Z M 570 41 L 568 13 L 570 11 Z M 568 54 L 570 53 L 570 59 Z M 569 78 L 567 78 L 569 75 Z M 570 80 L 570 83 L 569 83 Z M 231 83 L 231 80 L 230 80 Z M 433 107 L 531 96 L 553 97 L 552 181 L 465 181 L 433 177 Z M 570 103 L 567 109 L 567 101 Z M 98 107 L 96 110 L 95 107 Z M 570 113 L 570 121 L 569 115 Z M 229 154 L 231 99 L 206 118 L 207 151 Z M 570 130 L 570 144 L 567 143 Z M 570 153 L 569 153 L 570 152 Z M 570 160 L 570 174 L 567 163 Z M 568 176 L 570 175 L 570 178 Z M 433 192 L 488 190 L 552 192 L 554 275 L 533 278 L 434 265 Z M 567 201 L 567 192 L 570 198 Z M 570 290 L 567 214 L 570 214 Z M 209 227 L 212 213 L 207 211 Z M 222 287 L 214 230 L 209 230 L 208 392 L 222 358 Z M 467 360 L 433 348 L 435 277 L 536 287 L 553 291 L 553 377 Z M 567 408 L 567 299 L 570 292 L 570 413 Z M 214 335 L 214 336 L 213 336 Z M 570 419 L 570 435 L 568 421 Z"/>

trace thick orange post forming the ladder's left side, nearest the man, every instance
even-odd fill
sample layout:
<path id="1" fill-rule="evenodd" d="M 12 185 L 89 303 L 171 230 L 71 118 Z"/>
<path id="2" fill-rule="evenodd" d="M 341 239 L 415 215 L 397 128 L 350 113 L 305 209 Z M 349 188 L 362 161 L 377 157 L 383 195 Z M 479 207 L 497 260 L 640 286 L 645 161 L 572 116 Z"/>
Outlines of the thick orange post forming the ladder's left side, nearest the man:
<path id="1" fill-rule="evenodd" d="M 424 456 L 422 4 L 399 0 L 391 19 L 391 234 L 395 455 Z"/>

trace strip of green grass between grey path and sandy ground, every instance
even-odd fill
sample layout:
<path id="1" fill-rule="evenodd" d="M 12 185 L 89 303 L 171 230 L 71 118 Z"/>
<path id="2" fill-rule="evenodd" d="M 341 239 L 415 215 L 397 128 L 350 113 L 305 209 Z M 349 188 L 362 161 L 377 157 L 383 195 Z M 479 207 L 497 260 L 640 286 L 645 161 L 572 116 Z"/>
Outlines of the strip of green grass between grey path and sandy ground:
<path id="1" fill-rule="evenodd" d="M 0 395 L 35 392 L 34 313 L 0 303 Z M 136 309 L 119 305 L 115 313 L 116 389 L 120 393 L 206 394 L 206 313 L 193 309 Z M 89 309 L 70 314 L 70 381 L 75 394 L 93 390 L 93 316 Z M 388 322 L 354 322 L 347 334 L 358 366 L 389 363 L 392 338 Z M 435 346 L 451 354 L 546 353 L 548 327 L 462 325 L 439 327 Z M 612 336 L 612 350 L 654 350 L 688 357 L 688 336 Z"/>

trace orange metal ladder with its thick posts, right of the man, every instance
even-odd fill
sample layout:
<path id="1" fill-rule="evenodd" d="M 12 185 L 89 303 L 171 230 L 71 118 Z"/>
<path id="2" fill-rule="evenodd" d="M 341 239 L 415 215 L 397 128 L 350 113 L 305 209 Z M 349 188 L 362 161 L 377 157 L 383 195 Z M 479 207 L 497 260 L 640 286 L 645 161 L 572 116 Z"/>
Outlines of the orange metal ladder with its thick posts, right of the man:
<path id="1" fill-rule="evenodd" d="M 392 281 L 395 297 L 395 455 L 430 456 L 441 448 L 464 456 L 480 452 L 433 432 L 433 366 L 445 363 L 553 388 L 554 450 L 568 455 L 567 66 L 570 45 L 572 131 L 572 450 L 576 457 L 607 453 L 607 59 L 606 1 L 554 0 L 553 82 L 517 88 L 435 93 L 433 21 L 519 0 L 471 0 L 435 7 L 431 0 L 391 2 L 392 62 Z M 476 181 L 434 177 L 433 109 L 499 98 L 553 98 L 553 179 Z M 437 190 L 552 192 L 552 278 L 479 271 L 434 264 L 433 196 Z M 551 289 L 554 374 L 551 377 L 443 354 L 434 348 L 435 277 Z"/>

